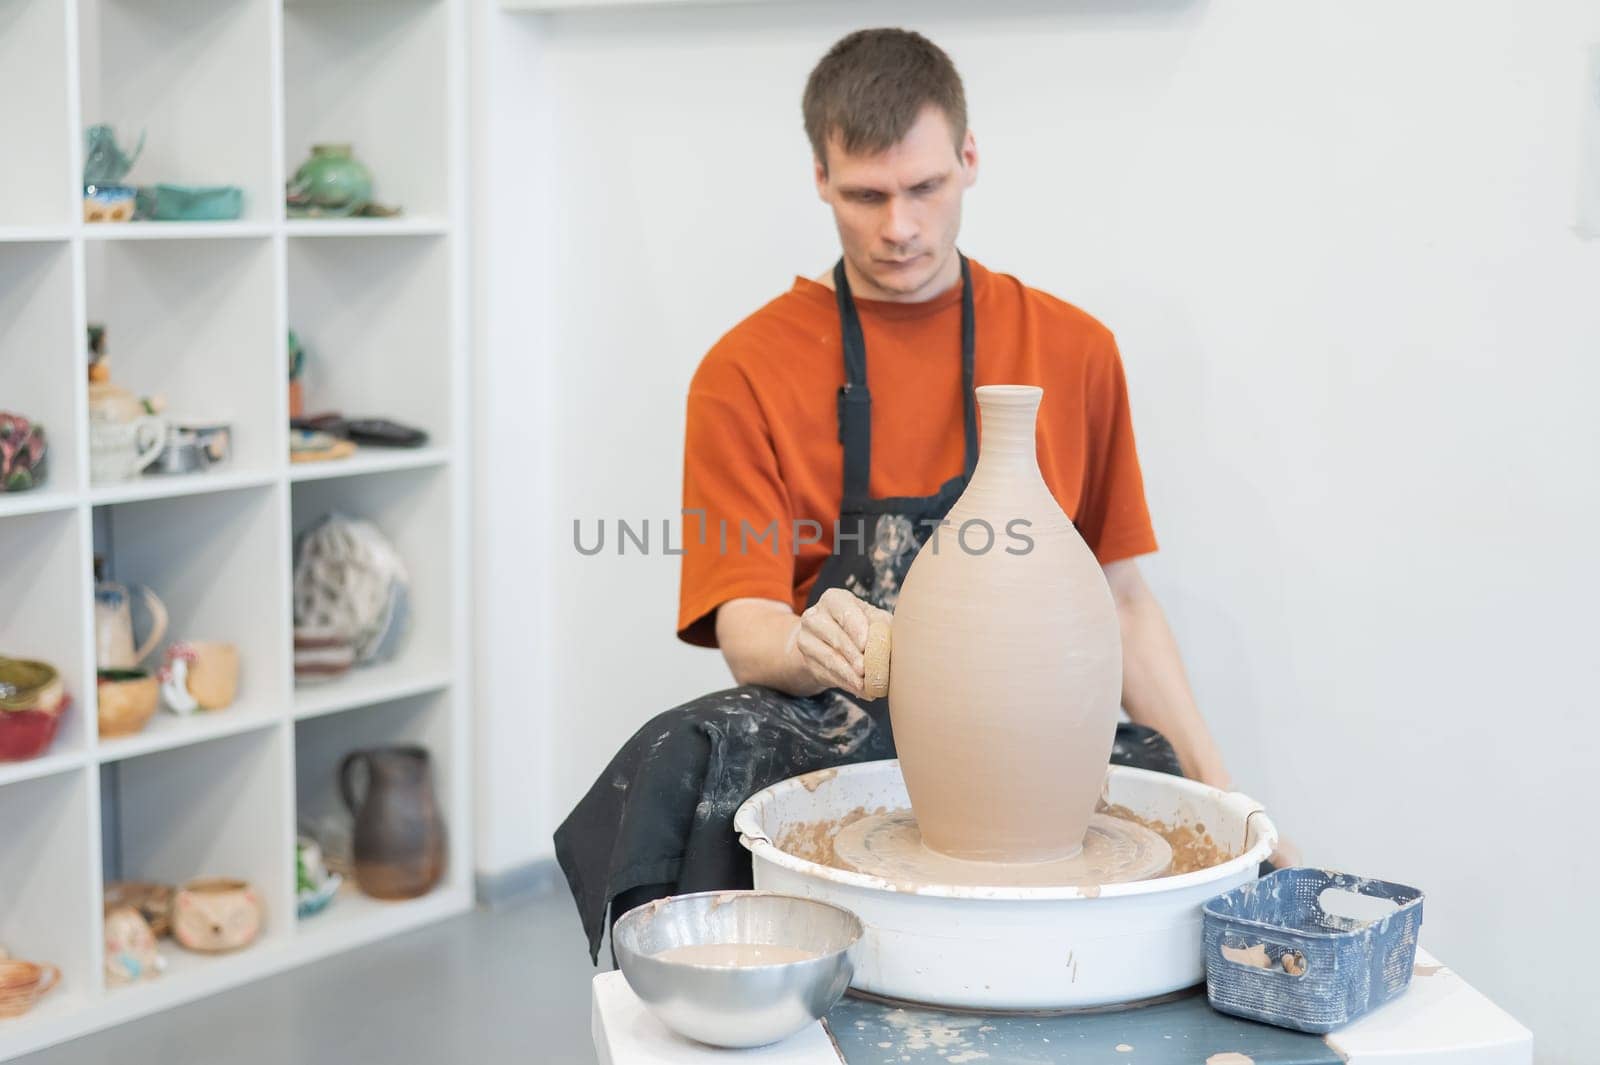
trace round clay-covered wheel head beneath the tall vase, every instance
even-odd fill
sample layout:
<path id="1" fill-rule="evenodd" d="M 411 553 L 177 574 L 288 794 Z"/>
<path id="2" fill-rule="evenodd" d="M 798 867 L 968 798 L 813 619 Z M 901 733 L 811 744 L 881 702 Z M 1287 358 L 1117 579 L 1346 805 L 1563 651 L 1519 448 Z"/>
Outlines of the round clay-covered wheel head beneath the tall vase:
<path id="1" fill-rule="evenodd" d="M 1160 876 L 1173 864 L 1166 840 L 1122 817 L 1094 814 L 1083 849 L 1053 862 L 971 862 L 928 849 L 909 809 L 862 817 L 834 836 L 843 868 L 898 884 L 1072 888 Z"/>

